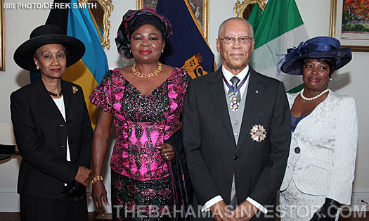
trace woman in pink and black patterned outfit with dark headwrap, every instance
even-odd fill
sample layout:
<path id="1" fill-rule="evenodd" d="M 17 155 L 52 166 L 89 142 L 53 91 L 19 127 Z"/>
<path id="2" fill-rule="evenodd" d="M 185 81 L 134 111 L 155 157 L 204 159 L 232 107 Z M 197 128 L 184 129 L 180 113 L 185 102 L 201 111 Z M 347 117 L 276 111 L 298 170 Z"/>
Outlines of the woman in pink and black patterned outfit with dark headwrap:
<path id="1" fill-rule="evenodd" d="M 170 220 L 173 215 L 167 160 L 175 158 L 175 151 L 164 141 L 178 130 L 189 76 L 159 62 L 170 35 L 169 21 L 153 9 L 129 10 L 115 42 L 119 53 L 136 63 L 109 70 L 90 96 L 99 108 L 92 197 L 102 214 L 108 200 L 101 172 L 112 121 L 117 128 L 110 161 L 113 220 Z"/>

